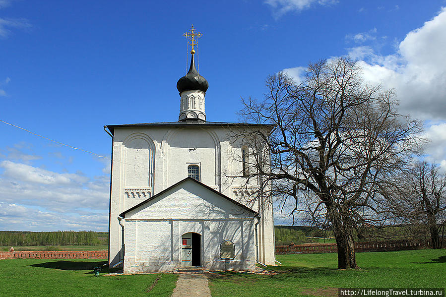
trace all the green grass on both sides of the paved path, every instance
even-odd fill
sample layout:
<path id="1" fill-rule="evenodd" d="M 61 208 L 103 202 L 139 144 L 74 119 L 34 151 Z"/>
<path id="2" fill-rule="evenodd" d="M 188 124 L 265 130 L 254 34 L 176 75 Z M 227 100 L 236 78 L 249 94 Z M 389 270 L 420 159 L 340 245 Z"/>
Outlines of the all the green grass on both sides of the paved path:
<path id="1" fill-rule="evenodd" d="M 357 253 L 359 270 L 337 270 L 337 255 L 278 255 L 275 275 L 214 273 L 212 297 L 336 297 L 337 288 L 445 288 L 446 250 Z M 96 278 L 104 260 L 0 261 L 0 296 L 169 297 L 177 276 L 149 274 Z M 158 279 L 159 278 L 159 279 Z M 152 290 L 152 284 L 158 279 Z"/>

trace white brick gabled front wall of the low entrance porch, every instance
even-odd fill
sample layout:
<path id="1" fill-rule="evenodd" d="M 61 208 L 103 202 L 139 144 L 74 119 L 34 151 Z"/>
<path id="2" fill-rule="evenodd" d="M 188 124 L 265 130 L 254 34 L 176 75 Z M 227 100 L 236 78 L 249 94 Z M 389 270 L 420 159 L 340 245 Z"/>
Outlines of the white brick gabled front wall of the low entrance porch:
<path id="1" fill-rule="evenodd" d="M 220 243 L 229 239 L 235 245 L 231 268 L 252 271 L 255 269 L 254 221 L 252 212 L 187 180 L 126 214 L 124 272 L 178 268 L 181 238 L 189 232 L 201 235 L 201 265 L 206 269 L 224 269 Z"/>

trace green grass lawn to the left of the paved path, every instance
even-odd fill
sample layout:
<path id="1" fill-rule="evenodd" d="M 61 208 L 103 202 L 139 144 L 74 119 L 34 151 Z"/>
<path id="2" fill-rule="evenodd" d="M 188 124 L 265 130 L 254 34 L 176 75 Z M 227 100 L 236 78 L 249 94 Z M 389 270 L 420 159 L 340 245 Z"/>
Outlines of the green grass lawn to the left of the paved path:
<path id="1" fill-rule="evenodd" d="M 146 274 L 95 277 L 104 260 L 0 260 L 0 296 L 11 297 L 169 297 L 178 276 Z M 156 285 L 147 293 L 158 278 Z"/>

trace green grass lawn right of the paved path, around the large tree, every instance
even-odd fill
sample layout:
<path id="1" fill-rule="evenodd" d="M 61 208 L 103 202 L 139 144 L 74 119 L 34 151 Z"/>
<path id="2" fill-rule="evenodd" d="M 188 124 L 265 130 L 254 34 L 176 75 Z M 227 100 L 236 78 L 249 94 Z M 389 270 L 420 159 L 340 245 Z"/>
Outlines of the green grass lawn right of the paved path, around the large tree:
<path id="1" fill-rule="evenodd" d="M 213 274 L 212 297 L 337 296 L 332 288 L 445 288 L 446 250 L 357 253 L 359 270 L 337 270 L 337 254 L 278 255 L 276 275 Z M 328 288 L 328 289 L 327 289 Z M 329 291 L 327 293 L 327 291 Z"/>

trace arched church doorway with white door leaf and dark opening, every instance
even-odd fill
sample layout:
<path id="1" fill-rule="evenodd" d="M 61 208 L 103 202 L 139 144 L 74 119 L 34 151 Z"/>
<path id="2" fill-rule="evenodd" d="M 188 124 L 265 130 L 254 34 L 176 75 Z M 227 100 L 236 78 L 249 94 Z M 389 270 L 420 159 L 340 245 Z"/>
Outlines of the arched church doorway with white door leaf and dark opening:
<path id="1" fill-rule="evenodd" d="M 201 235 L 186 233 L 181 237 L 181 266 L 201 266 Z"/>

